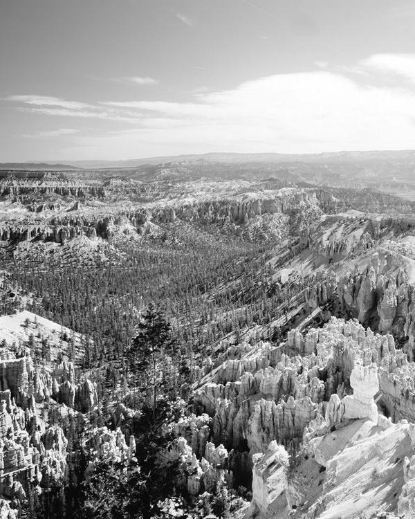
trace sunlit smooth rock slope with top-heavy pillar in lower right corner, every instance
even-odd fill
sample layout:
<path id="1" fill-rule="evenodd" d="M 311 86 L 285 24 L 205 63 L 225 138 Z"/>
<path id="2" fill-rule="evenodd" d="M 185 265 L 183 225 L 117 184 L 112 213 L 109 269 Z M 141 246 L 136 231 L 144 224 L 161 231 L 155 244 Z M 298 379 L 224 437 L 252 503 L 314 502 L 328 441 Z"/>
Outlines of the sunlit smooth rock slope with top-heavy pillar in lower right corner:
<path id="1" fill-rule="evenodd" d="M 376 365 L 353 368 L 356 402 L 350 406 L 353 397 L 340 400 L 333 394 L 326 418 L 317 415 L 305 428 L 295 459 L 282 450 L 282 461 L 280 455 L 273 460 L 270 451 L 281 449 L 277 444 L 264 455 L 254 455 L 249 517 L 277 513 L 302 519 L 340 515 L 354 519 L 361 513 L 376 517 L 380 512 L 387 517 L 414 516 L 415 426 L 406 420 L 393 424 L 382 415 L 372 420 L 376 417 L 369 400 L 374 402 L 378 389 L 376 370 Z M 348 406 L 349 416 L 344 413 Z M 371 416 L 358 418 L 362 410 Z"/>

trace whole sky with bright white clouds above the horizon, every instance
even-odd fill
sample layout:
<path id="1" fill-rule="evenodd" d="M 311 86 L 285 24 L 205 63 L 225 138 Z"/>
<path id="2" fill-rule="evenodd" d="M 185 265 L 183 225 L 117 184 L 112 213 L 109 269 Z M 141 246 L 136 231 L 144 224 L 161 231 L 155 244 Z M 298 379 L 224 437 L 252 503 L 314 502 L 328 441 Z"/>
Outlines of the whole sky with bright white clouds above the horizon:
<path id="1" fill-rule="evenodd" d="M 415 148 L 413 0 L 1 0 L 0 161 Z"/>

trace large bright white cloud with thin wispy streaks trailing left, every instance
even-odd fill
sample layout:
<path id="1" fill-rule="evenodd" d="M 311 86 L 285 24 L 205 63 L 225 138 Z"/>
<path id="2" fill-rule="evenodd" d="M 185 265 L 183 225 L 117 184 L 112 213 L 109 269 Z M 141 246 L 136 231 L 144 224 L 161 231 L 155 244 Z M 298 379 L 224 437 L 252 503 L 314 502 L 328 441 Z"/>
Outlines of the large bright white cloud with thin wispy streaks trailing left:
<path id="1" fill-rule="evenodd" d="M 71 107 L 56 101 L 27 107 L 20 99 L 19 109 L 125 122 L 122 131 L 74 136 L 77 146 L 68 153 L 80 158 L 408 149 L 415 142 L 415 85 L 410 80 L 415 56 L 387 56 L 371 56 L 342 69 L 328 64 L 270 75 L 225 91 L 189 93 L 189 102 L 136 98 L 80 109 L 73 107 L 76 101 L 65 101 Z"/>

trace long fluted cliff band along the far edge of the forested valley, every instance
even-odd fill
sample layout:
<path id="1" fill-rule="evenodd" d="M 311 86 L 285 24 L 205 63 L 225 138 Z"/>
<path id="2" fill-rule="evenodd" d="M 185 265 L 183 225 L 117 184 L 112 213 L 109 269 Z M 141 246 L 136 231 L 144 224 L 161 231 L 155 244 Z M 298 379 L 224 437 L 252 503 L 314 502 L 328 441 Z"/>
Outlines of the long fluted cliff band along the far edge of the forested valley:
<path id="1" fill-rule="evenodd" d="M 4 190 L 3 196 L 10 189 L 17 189 L 19 194 L 13 196 L 21 197 L 21 190 L 30 188 L 11 188 Z M 48 190 L 57 190 L 57 194 L 62 196 L 84 197 L 90 194 L 92 197 L 105 197 L 104 188 L 102 191 L 94 187 L 82 188 L 73 187 L 50 187 L 44 186 L 40 194 L 48 193 Z M 8 195 L 7 195 L 8 196 Z M 1 186 L 0 186 L 1 197 Z M 297 212 L 306 208 L 317 208 L 320 212 L 333 212 L 337 208 L 337 201 L 328 192 L 317 189 L 288 189 L 276 190 L 270 197 L 258 194 L 257 196 L 246 195 L 234 198 L 218 198 L 209 201 L 178 200 L 175 203 L 145 203 L 136 207 L 134 210 L 119 210 L 117 214 L 91 216 L 91 212 L 84 213 L 77 209 L 76 215 L 71 212 L 61 212 L 59 215 L 48 215 L 42 217 L 44 208 L 37 206 L 37 216 L 19 222 L 19 224 L 3 224 L 0 226 L 0 240 L 3 241 L 26 241 L 32 239 L 42 239 L 44 242 L 55 242 L 64 244 L 67 240 L 77 236 L 85 235 L 91 239 L 101 237 L 109 239 L 120 228 L 122 232 L 136 230 L 139 234 L 147 232 L 145 224 L 174 223 L 176 219 L 184 221 L 205 221 L 218 223 L 230 221 L 234 224 L 245 224 L 250 219 L 261 215 L 273 215 L 282 213 L 288 216 L 295 216 Z M 39 211 L 38 211 L 39 209 Z M 33 221 L 35 219 L 35 221 Z"/>

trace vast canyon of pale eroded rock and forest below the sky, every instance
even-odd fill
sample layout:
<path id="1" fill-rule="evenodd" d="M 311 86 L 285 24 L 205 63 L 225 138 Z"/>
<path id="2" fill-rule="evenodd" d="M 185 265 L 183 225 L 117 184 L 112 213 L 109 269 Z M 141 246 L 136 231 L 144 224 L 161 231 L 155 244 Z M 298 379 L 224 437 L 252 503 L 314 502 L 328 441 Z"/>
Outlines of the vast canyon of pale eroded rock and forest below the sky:
<path id="1" fill-rule="evenodd" d="M 178 467 L 177 491 L 233 489 L 232 513 L 245 519 L 415 517 L 415 215 L 411 195 L 389 185 L 413 157 L 355 157 L 353 174 L 349 159 L 3 172 L 1 517 L 68 478 L 76 421 L 85 484 L 102 466 L 135 473 L 142 408 L 120 329 L 137 333 L 121 323 L 140 322 L 156 289 L 174 294 L 181 348 L 194 341 L 191 396 L 164 424 L 160 451 Z M 156 277 L 124 286 L 120 273 L 154 268 L 144 257 L 156 258 Z M 163 257 L 169 275 L 157 270 Z M 119 286 L 107 281 L 114 271 Z M 64 277 L 65 312 L 49 302 Z M 104 331 L 106 299 L 118 320 Z"/>

